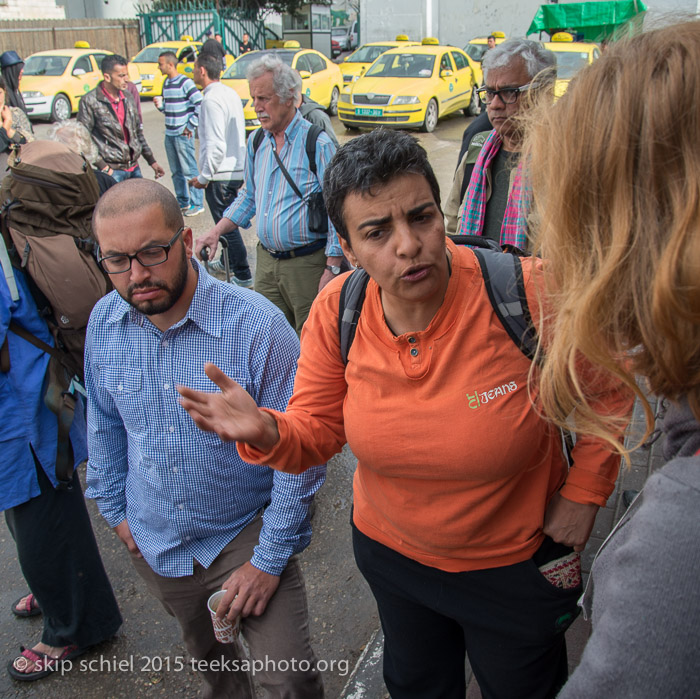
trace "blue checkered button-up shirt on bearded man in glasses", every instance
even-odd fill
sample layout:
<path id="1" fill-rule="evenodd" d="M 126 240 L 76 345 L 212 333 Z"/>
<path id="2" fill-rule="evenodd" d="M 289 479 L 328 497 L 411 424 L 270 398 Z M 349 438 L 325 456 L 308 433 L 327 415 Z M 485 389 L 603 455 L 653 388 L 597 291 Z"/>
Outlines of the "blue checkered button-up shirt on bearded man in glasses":
<path id="1" fill-rule="evenodd" d="M 284 410 L 299 342 L 259 294 L 199 280 L 187 315 L 161 332 L 116 292 L 90 317 L 86 496 L 111 527 L 125 518 L 149 565 L 165 577 L 208 567 L 266 507 L 251 563 L 279 575 L 308 546 L 308 507 L 325 466 L 300 476 L 245 463 L 235 443 L 199 430 L 176 385 L 218 390 L 204 374 L 214 362 L 258 405 Z"/>

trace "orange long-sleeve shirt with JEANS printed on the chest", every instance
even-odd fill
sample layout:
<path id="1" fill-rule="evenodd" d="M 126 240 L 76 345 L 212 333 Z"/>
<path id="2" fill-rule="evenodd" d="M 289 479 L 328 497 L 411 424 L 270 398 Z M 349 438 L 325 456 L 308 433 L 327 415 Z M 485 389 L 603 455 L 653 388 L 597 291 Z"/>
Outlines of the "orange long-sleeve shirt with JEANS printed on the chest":
<path id="1" fill-rule="evenodd" d="M 446 571 L 510 565 L 542 541 L 552 495 L 604 505 L 619 458 L 579 439 L 567 474 L 559 431 L 532 408 L 530 361 L 493 312 L 473 252 L 451 242 L 444 302 L 422 332 L 395 337 L 370 281 L 345 367 L 338 340 L 342 279 L 318 296 L 302 333 L 294 395 L 274 413 L 280 441 L 252 462 L 299 472 L 337 453 L 357 456 L 354 522 L 372 539 Z M 530 307 L 533 274 L 523 260 Z M 533 272 L 534 270 L 534 272 Z M 629 403 L 599 396 L 615 412 Z"/>

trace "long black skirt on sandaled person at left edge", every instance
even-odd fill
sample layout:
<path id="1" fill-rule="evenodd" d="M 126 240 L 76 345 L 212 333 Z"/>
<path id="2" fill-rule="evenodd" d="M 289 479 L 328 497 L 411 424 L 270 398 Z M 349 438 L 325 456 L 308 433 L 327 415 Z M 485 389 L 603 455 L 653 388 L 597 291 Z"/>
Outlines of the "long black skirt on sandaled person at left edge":
<path id="1" fill-rule="evenodd" d="M 41 607 L 50 646 L 88 648 L 122 623 L 77 472 L 70 490 L 55 490 L 36 465 L 41 494 L 5 511 L 24 579 Z"/>

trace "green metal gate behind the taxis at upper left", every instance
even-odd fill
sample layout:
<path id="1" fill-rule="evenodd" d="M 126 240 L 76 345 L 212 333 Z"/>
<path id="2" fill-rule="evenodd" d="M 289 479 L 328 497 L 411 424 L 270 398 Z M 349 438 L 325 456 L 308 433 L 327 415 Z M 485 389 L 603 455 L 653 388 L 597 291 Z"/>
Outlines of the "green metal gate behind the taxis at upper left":
<path id="1" fill-rule="evenodd" d="M 238 55 L 243 34 L 250 35 L 254 48 L 265 48 L 265 24 L 260 17 L 234 8 L 207 7 L 209 3 L 184 0 L 168 3 L 173 9 L 149 11 L 139 8 L 139 32 L 143 46 L 159 41 L 177 41 L 191 36 L 206 41 L 207 32 L 221 34 L 227 53 Z M 175 7 L 177 6 L 177 7 Z"/>

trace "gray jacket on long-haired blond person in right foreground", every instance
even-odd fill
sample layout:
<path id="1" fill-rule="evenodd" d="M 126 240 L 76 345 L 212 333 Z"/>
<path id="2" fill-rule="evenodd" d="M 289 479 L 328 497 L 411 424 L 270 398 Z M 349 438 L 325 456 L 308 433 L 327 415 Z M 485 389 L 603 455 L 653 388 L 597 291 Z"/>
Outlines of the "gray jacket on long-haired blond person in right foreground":
<path id="1" fill-rule="evenodd" d="M 559 697 L 700 695 L 700 425 L 687 403 L 663 423 L 664 457 L 593 564 L 593 633 Z M 592 589 L 591 589 L 592 587 Z"/>

